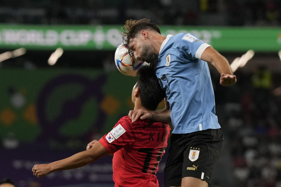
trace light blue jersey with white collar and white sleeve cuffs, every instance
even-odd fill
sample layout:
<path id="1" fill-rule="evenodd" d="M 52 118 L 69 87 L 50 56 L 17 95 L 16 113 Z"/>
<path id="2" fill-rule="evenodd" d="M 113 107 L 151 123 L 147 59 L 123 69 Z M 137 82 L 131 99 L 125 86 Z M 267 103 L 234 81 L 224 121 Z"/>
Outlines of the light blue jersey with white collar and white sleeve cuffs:
<path id="1" fill-rule="evenodd" d="M 168 35 L 161 45 L 156 75 L 170 104 L 174 134 L 220 128 L 209 67 L 201 60 L 208 46 L 189 33 Z"/>

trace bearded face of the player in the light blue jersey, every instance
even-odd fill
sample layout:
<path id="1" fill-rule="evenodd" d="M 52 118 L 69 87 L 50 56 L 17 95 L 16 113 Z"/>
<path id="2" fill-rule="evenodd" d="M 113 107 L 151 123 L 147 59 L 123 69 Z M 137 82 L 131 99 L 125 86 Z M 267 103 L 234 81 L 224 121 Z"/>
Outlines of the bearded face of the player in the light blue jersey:
<path id="1" fill-rule="evenodd" d="M 143 40 L 142 37 L 130 39 L 129 49 L 133 52 L 137 60 L 150 63 L 158 58 L 158 54 L 153 52 L 151 43 Z"/>

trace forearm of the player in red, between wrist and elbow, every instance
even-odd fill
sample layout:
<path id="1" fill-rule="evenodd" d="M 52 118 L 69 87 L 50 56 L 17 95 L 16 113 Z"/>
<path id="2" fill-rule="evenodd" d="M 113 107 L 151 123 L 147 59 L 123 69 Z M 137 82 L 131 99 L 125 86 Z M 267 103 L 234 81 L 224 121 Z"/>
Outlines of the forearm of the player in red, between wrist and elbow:
<path id="1" fill-rule="evenodd" d="M 98 158 L 93 157 L 89 150 L 76 153 L 71 157 L 65 158 L 63 160 L 58 160 L 50 163 L 51 172 L 75 169 L 78 167 L 83 167 L 91 162 L 95 162 Z"/>

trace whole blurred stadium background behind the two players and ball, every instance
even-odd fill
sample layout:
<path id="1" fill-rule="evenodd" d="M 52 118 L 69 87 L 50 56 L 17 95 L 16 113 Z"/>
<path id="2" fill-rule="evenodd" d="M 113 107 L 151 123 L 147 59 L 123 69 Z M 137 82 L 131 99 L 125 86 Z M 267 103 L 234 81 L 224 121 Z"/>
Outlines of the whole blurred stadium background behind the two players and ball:
<path id="1" fill-rule="evenodd" d="M 0 179 L 8 177 L 19 187 L 113 186 L 109 156 L 41 179 L 31 168 L 85 150 L 133 108 L 136 79 L 118 72 L 114 51 L 125 20 L 148 18 L 163 35 L 195 34 L 229 63 L 255 51 L 235 72 L 233 86 L 220 86 L 220 75 L 210 67 L 225 133 L 210 186 L 281 186 L 280 1 L 1 0 L 0 5 Z M 58 47 L 64 53 L 48 65 Z M 19 48 L 26 53 L 5 53 Z M 167 154 L 157 173 L 160 186 Z"/>

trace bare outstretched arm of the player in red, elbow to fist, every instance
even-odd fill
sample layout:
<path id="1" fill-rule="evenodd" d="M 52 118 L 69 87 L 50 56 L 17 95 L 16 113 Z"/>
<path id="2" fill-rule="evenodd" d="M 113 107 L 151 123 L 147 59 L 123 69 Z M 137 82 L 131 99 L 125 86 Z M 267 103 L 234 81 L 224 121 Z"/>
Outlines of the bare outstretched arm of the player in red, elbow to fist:
<path id="1" fill-rule="evenodd" d="M 40 178 L 52 172 L 83 167 L 108 154 L 110 154 L 110 152 L 106 150 L 100 142 L 97 142 L 91 149 L 76 153 L 63 160 L 58 160 L 49 164 L 34 165 L 32 172 L 33 175 Z"/>

